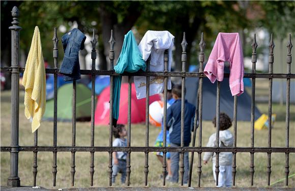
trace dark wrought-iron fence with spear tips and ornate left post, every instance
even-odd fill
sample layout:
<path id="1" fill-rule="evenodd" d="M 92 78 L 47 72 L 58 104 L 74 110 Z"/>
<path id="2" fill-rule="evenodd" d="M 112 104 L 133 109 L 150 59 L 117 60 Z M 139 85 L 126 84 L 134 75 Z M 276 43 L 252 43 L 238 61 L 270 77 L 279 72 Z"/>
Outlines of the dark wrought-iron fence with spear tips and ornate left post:
<path id="1" fill-rule="evenodd" d="M 144 152 L 145 153 L 145 162 L 144 162 L 144 185 L 147 185 L 147 177 L 149 175 L 149 153 L 150 152 L 163 152 L 163 165 L 162 172 L 163 176 L 166 175 L 166 153 L 167 152 L 180 152 L 180 172 L 181 172 L 181 185 L 183 185 L 183 177 L 184 177 L 184 153 L 191 152 L 190 159 L 190 171 L 189 171 L 189 182 L 188 186 L 191 186 L 191 177 L 192 177 L 192 169 L 193 169 L 193 160 L 194 160 L 194 152 L 197 152 L 197 174 L 198 174 L 198 186 L 200 185 L 200 178 L 202 174 L 202 165 L 201 165 L 201 154 L 202 152 L 215 152 L 216 153 L 216 176 L 218 180 L 219 174 L 219 153 L 220 152 L 232 152 L 232 184 L 235 185 L 235 173 L 236 171 L 236 154 L 241 152 L 250 153 L 250 174 L 251 174 L 251 182 L 250 185 L 254 184 L 253 176 L 254 176 L 254 153 L 261 152 L 268 154 L 268 165 L 267 165 L 267 179 L 268 185 L 270 185 L 271 178 L 271 154 L 274 152 L 285 153 L 285 185 L 288 185 L 288 174 L 289 174 L 289 153 L 294 153 L 295 148 L 289 147 L 289 119 L 290 119 L 290 79 L 295 78 L 295 74 L 290 72 L 290 64 L 291 64 L 291 35 L 289 36 L 289 41 L 287 44 L 288 53 L 287 53 L 287 72 L 284 74 L 273 73 L 273 36 L 271 36 L 270 44 L 269 44 L 269 72 L 268 73 L 256 73 L 255 64 L 256 64 L 256 36 L 254 35 L 253 43 L 252 43 L 252 72 L 245 73 L 244 77 L 252 79 L 252 101 L 251 101 L 251 147 L 237 147 L 237 96 L 234 96 L 234 116 L 233 116 L 233 147 L 202 147 L 202 81 L 205 75 L 203 74 L 203 63 L 204 63 L 204 48 L 205 42 L 203 39 L 203 34 L 201 35 L 201 41 L 199 43 L 200 53 L 199 53 L 199 72 L 186 72 L 186 38 L 184 33 L 184 38 L 181 43 L 183 51 L 182 51 L 182 71 L 181 72 L 168 72 L 168 51 L 165 51 L 164 54 L 164 72 L 151 72 L 149 71 L 150 61 L 146 62 L 147 71 L 146 72 L 136 72 L 136 73 L 123 73 L 122 75 L 128 76 L 128 135 L 127 135 L 127 147 L 112 147 L 112 105 L 113 105 L 113 78 L 116 74 L 113 70 L 113 61 L 114 61 L 114 50 L 113 46 L 115 43 L 113 33 L 111 31 L 111 37 L 109 40 L 110 44 L 110 53 L 109 59 L 111 64 L 110 70 L 96 70 L 95 69 L 95 61 L 96 61 L 96 43 L 95 34 L 93 31 L 93 40 L 91 41 L 93 49 L 92 49 L 92 69 L 91 70 L 81 70 L 82 75 L 91 75 L 92 76 L 92 108 L 91 108 L 91 144 L 87 147 L 76 147 L 75 146 L 75 138 L 76 138 L 76 81 L 73 81 L 73 119 L 72 119 L 72 145 L 71 146 L 57 146 L 57 74 L 59 73 L 59 69 L 57 66 L 57 58 L 58 58 L 58 49 L 57 43 L 58 38 L 56 35 L 56 28 L 54 29 L 54 37 L 53 41 L 53 59 L 54 59 L 54 69 L 46 69 L 46 73 L 54 74 L 54 122 L 53 122 L 53 145 L 49 146 L 38 146 L 38 130 L 34 133 L 34 146 L 19 146 L 19 73 L 24 71 L 24 68 L 19 67 L 19 32 L 21 27 L 19 26 L 18 16 L 19 11 L 17 7 L 14 7 L 12 10 L 13 22 L 12 26 L 10 26 L 11 35 L 12 35 L 12 63 L 11 67 L 1 67 L 1 72 L 10 72 L 11 73 L 11 85 L 12 85 L 12 96 L 11 96 L 11 145 L 10 146 L 1 146 L 1 152 L 10 152 L 10 176 L 8 178 L 9 186 L 20 186 L 20 179 L 18 177 L 18 153 L 19 152 L 33 152 L 34 153 L 34 165 L 33 165 L 33 178 L 34 178 L 34 186 L 36 185 L 36 176 L 37 176 L 37 155 L 38 152 L 49 151 L 53 154 L 53 163 L 52 163 L 52 174 L 53 174 L 53 186 L 55 186 L 56 182 L 56 173 L 57 173 L 57 165 L 56 165 L 56 155 L 57 152 L 71 152 L 72 153 L 72 161 L 71 161 L 71 179 L 72 186 L 74 185 L 74 177 L 75 177 L 75 153 L 76 152 L 90 152 L 91 163 L 90 163 L 90 185 L 93 185 L 93 175 L 94 175 L 94 153 L 95 152 L 108 152 L 108 176 L 109 176 L 109 185 L 112 185 L 111 182 L 111 174 L 112 174 L 112 152 L 117 151 L 125 151 L 127 152 L 127 185 L 130 185 L 130 174 L 131 174 L 131 165 L 130 165 L 130 155 L 131 152 Z M 110 118 L 109 118 L 109 146 L 108 147 L 99 147 L 94 144 L 94 112 L 95 112 L 95 76 L 96 75 L 109 75 L 110 76 Z M 132 76 L 146 76 L 146 102 L 145 102 L 145 147 L 132 147 L 130 144 L 131 141 L 131 79 Z M 197 129 L 197 121 L 194 121 L 194 133 L 193 133 L 193 141 L 191 147 L 184 147 L 184 96 L 182 96 L 182 107 L 181 107 L 181 147 L 164 147 L 166 145 L 166 133 L 163 133 L 164 141 L 163 147 L 150 147 L 149 146 L 149 86 L 150 86 L 150 76 L 158 76 L 164 78 L 164 132 L 166 132 L 166 112 L 167 112 L 167 79 L 168 77 L 181 77 L 182 78 L 182 94 L 185 93 L 185 78 L 186 77 L 199 77 L 199 89 L 197 96 L 198 108 L 196 108 L 195 115 L 198 116 L 199 119 L 199 127 L 198 127 L 198 144 L 195 143 L 196 140 L 196 129 Z M 229 74 L 224 74 L 224 77 L 229 77 Z M 267 78 L 269 79 L 269 129 L 268 129 L 268 147 L 255 147 L 254 146 L 254 107 L 255 107 L 255 79 L 256 78 Z M 271 115 L 272 115 L 272 82 L 273 78 L 283 78 L 286 79 L 287 89 L 286 89 L 286 143 L 285 147 L 272 147 L 272 123 L 271 123 Z M 220 114 L 220 82 L 217 82 L 217 101 L 216 101 L 216 114 L 217 114 L 217 125 L 216 125 L 216 134 L 217 134 L 217 142 L 219 141 L 219 114 Z M 165 178 L 163 178 L 163 185 L 165 185 Z M 216 181 L 216 185 L 218 185 L 218 181 Z"/>

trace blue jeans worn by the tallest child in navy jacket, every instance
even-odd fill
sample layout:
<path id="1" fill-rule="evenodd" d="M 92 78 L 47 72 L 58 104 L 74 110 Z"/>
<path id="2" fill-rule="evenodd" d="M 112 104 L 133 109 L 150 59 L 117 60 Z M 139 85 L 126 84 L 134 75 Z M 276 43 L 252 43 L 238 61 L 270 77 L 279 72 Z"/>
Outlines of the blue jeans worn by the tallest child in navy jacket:
<path id="1" fill-rule="evenodd" d="M 171 147 L 180 147 L 180 144 L 170 143 Z M 188 147 L 189 144 L 185 144 Z M 178 183 L 179 179 L 179 152 L 171 152 L 171 171 L 172 171 L 172 182 Z M 184 153 L 184 184 L 188 183 L 189 180 L 189 153 Z"/>

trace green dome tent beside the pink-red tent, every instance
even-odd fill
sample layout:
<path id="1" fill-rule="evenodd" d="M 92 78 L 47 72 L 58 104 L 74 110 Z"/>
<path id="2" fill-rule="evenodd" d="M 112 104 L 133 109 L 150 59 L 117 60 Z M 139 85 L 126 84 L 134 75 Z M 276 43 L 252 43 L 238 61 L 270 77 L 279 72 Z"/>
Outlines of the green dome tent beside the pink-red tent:
<path id="1" fill-rule="evenodd" d="M 77 84 L 76 119 L 90 121 L 91 90 L 83 84 Z M 97 99 L 97 98 L 95 98 Z M 43 120 L 53 121 L 53 99 L 47 100 Z M 65 84 L 57 90 L 57 120 L 72 121 L 73 84 Z"/>

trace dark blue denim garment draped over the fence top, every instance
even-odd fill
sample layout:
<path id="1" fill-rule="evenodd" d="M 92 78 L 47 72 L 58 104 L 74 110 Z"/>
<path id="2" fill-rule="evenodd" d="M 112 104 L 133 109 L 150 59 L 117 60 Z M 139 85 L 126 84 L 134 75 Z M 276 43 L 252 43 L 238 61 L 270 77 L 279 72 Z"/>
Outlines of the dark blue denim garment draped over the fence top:
<path id="1" fill-rule="evenodd" d="M 86 36 L 78 29 L 73 29 L 62 37 L 65 56 L 60 72 L 65 75 L 65 81 L 81 78 L 79 50 L 84 48 L 85 39 Z"/>

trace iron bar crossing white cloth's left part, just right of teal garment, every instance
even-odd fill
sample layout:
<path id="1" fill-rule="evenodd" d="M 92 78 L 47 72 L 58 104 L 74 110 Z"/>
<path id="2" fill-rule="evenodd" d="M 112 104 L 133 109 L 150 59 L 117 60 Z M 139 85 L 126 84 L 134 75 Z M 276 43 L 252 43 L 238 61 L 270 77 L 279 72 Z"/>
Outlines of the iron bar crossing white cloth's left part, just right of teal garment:
<path id="1" fill-rule="evenodd" d="M 150 71 L 151 57 L 146 61 L 146 72 Z M 145 96 L 145 147 L 149 147 L 150 133 L 150 76 L 146 76 L 146 96 Z M 147 186 L 147 175 L 149 174 L 149 152 L 144 152 L 144 185 Z"/>

